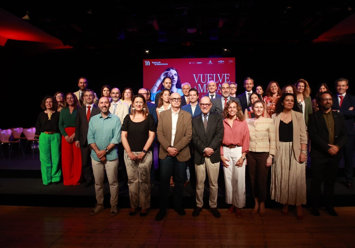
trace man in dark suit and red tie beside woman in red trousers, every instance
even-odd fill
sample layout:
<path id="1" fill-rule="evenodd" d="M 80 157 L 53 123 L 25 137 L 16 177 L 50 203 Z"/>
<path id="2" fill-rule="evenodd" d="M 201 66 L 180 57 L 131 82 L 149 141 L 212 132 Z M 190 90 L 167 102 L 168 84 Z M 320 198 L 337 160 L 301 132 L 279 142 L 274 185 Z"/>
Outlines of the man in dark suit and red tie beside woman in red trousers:
<path id="1" fill-rule="evenodd" d="M 82 173 L 86 182 L 84 183 L 84 188 L 89 187 L 94 183 L 94 175 L 91 167 L 91 147 L 88 145 L 87 135 L 89 130 L 89 120 L 94 115 L 100 113 L 100 109 L 94 104 L 95 93 L 92 90 L 84 91 L 84 100 L 86 105 L 78 109 L 78 115 L 76 116 L 76 125 L 75 125 L 75 146 L 80 147 L 81 151 L 81 165 Z M 87 115 L 87 112 L 90 109 L 90 114 Z"/>

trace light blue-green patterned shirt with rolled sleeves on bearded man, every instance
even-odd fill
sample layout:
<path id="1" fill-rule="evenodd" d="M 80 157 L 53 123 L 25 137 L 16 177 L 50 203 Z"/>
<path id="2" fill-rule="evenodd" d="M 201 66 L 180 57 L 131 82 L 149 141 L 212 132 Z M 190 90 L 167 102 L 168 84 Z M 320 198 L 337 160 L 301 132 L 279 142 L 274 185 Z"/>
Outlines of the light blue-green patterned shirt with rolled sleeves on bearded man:
<path id="1" fill-rule="evenodd" d="M 121 120 L 117 115 L 109 113 L 103 118 L 101 113 L 91 117 L 88 130 L 88 145 L 95 143 L 99 150 L 104 150 L 110 143 L 118 144 L 121 141 Z M 100 161 L 94 150 L 91 158 Z M 106 154 L 106 159 L 111 161 L 118 158 L 117 146 Z"/>

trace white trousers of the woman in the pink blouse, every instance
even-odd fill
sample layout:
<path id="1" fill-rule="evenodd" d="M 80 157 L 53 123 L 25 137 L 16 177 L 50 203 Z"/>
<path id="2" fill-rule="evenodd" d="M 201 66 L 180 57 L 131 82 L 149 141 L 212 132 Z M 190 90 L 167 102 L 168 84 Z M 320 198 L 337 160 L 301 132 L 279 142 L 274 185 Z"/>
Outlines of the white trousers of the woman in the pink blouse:
<path id="1" fill-rule="evenodd" d="M 242 167 L 237 167 L 235 164 L 242 156 L 242 147 L 228 148 L 223 147 L 223 156 L 229 159 L 226 162 L 229 166 L 225 168 L 225 202 L 233 204 L 237 208 L 245 207 L 245 161 Z"/>

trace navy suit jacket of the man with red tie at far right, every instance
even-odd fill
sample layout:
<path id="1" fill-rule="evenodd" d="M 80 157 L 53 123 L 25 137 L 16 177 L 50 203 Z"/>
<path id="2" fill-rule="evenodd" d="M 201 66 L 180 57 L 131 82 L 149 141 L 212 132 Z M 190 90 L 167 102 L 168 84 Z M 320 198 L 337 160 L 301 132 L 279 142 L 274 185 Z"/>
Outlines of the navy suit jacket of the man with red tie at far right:
<path id="1" fill-rule="evenodd" d="M 353 110 L 348 110 L 350 107 L 354 107 Z M 332 109 L 340 110 L 340 113 L 344 115 L 346 130 L 348 131 L 349 136 L 355 135 L 355 96 L 346 93 L 342 107 L 339 107 L 338 95 L 333 97 L 333 106 Z"/>

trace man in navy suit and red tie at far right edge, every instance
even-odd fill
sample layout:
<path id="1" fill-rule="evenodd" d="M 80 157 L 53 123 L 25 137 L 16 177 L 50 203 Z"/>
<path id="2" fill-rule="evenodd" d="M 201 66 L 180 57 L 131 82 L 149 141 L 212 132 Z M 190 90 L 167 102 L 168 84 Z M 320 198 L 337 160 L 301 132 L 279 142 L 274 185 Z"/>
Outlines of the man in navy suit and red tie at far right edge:
<path id="1" fill-rule="evenodd" d="M 336 80 L 335 88 L 337 89 L 337 96 L 333 97 L 332 109 L 342 113 L 345 118 L 348 139 L 346 140 L 342 153 L 344 155 L 345 165 L 345 186 L 351 189 L 353 188 L 354 173 L 355 96 L 346 93 L 346 90 L 349 88 L 349 80 L 346 78 Z"/>

